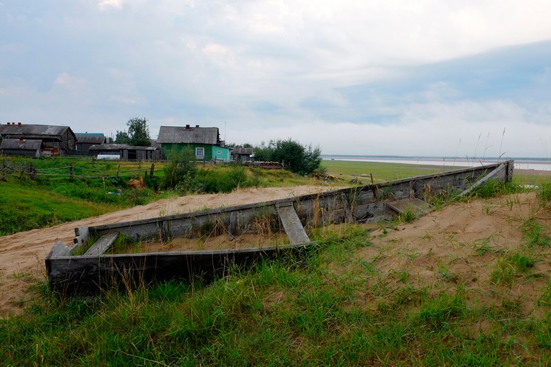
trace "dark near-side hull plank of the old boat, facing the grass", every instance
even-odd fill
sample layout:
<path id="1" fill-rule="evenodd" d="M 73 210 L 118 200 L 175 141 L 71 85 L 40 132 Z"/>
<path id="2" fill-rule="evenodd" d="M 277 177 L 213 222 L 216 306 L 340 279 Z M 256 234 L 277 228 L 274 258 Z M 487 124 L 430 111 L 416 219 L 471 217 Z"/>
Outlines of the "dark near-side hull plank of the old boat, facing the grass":
<path id="1" fill-rule="evenodd" d="M 152 282 L 224 276 L 232 265 L 252 264 L 261 258 L 300 256 L 309 244 L 239 250 L 174 251 L 100 256 L 46 258 L 48 282 L 65 295 L 94 294 L 100 289 L 134 289 Z"/>

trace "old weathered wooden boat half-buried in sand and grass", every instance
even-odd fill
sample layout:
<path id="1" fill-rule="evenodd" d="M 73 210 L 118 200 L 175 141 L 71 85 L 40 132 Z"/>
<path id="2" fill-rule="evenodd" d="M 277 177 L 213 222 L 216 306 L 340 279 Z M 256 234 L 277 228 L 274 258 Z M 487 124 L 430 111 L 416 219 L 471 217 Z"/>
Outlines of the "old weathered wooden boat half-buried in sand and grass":
<path id="1" fill-rule="evenodd" d="M 305 228 L 339 222 L 391 220 L 403 210 L 427 211 L 428 199 L 464 196 L 488 180 L 512 180 L 514 162 L 481 165 L 439 174 L 404 178 L 389 182 L 313 193 L 295 198 L 259 202 L 220 209 L 209 209 L 159 218 L 135 220 L 95 227 L 77 227 L 74 243 L 67 247 L 56 242 L 46 257 L 48 282 L 53 291 L 64 294 L 97 293 L 111 287 L 173 279 L 212 278 L 233 264 L 251 264 L 261 258 L 299 255 L 312 245 Z M 214 251 L 168 251 L 155 253 L 108 254 L 118 235 L 136 241 L 170 240 L 193 237 L 201 226 L 217 223 L 229 238 L 250 230 L 255 218 L 277 220 L 290 244 Z M 97 239 L 83 255 L 91 239 Z"/>

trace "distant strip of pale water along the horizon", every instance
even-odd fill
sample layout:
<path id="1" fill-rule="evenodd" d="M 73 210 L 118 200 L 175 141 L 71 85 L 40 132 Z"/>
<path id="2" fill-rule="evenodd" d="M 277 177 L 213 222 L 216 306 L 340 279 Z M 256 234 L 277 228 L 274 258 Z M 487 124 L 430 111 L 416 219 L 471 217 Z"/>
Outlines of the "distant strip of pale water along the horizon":
<path id="1" fill-rule="evenodd" d="M 453 158 L 453 157 L 405 157 L 405 156 L 340 156 L 322 154 L 324 160 L 352 160 L 358 162 L 386 162 L 406 163 L 410 165 L 433 165 L 448 167 L 477 167 L 514 160 L 516 169 L 535 169 L 538 171 L 551 171 L 551 159 L 549 158 Z"/>

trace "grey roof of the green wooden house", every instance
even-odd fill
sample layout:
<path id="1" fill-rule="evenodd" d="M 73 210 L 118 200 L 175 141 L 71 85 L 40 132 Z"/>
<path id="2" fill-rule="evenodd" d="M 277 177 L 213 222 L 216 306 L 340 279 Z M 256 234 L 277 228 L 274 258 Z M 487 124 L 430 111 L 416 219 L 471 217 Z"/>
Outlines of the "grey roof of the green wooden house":
<path id="1" fill-rule="evenodd" d="M 161 126 L 157 143 L 220 145 L 218 127 Z"/>

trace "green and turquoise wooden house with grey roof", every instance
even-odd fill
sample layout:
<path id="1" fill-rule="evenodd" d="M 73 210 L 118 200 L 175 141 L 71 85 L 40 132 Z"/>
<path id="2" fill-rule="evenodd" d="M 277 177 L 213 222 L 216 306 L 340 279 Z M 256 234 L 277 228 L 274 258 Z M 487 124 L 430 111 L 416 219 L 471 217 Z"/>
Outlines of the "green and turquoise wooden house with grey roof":
<path id="1" fill-rule="evenodd" d="M 230 149 L 223 146 L 218 127 L 161 126 L 157 144 L 163 149 L 163 159 L 191 149 L 197 160 L 230 161 Z"/>

